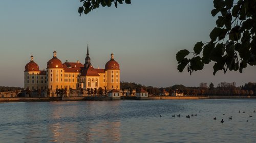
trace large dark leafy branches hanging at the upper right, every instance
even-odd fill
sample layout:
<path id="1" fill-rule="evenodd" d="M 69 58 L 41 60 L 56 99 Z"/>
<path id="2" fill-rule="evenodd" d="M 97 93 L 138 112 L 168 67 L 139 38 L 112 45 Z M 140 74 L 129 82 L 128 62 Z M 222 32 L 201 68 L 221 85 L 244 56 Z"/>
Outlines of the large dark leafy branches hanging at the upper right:
<path id="1" fill-rule="evenodd" d="M 219 70 L 242 73 L 247 64 L 256 65 L 256 1 L 239 0 L 234 4 L 233 0 L 214 0 L 214 7 L 211 15 L 218 14 L 218 19 L 209 35 L 211 41 L 197 42 L 193 52 L 180 50 L 176 54 L 180 72 L 187 66 L 191 74 L 210 62 L 215 63 L 214 75 Z"/>

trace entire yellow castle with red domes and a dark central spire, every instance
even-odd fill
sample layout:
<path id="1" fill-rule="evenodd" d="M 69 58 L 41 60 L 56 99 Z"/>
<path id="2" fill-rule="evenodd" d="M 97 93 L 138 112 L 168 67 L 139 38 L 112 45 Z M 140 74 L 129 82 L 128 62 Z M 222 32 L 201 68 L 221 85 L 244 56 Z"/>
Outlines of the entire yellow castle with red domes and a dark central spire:
<path id="1" fill-rule="evenodd" d="M 25 89 L 50 90 L 51 96 L 56 96 L 56 89 L 79 90 L 79 89 L 106 89 L 120 90 L 120 69 L 119 64 L 114 60 L 111 53 L 110 61 L 106 62 L 104 69 L 95 69 L 91 64 L 89 46 L 85 63 L 77 62 L 62 63 L 57 58 L 57 52 L 53 52 L 53 58 L 47 62 L 46 70 L 39 70 L 31 55 L 30 62 L 25 66 L 24 71 Z"/>

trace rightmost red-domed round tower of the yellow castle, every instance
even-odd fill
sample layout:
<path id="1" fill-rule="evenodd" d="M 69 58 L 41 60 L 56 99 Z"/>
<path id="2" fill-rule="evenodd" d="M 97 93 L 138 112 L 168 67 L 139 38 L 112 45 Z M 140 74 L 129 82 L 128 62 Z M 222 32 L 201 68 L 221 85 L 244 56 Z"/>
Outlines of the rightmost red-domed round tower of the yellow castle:
<path id="1" fill-rule="evenodd" d="M 114 54 L 111 53 L 110 61 L 105 64 L 106 87 L 108 90 L 120 90 L 120 67 L 114 60 Z"/>

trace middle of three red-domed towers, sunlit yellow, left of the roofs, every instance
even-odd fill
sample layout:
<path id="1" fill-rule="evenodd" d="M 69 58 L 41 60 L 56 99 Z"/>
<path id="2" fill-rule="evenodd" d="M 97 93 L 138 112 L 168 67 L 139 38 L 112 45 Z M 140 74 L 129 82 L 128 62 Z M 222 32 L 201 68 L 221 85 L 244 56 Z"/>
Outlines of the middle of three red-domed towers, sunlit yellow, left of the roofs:
<path id="1" fill-rule="evenodd" d="M 53 58 L 47 62 L 47 88 L 50 90 L 62 89 L 62 75 L 64 73 L 62 62 L 57 58 L 57 52 L 53 52 Z"/>

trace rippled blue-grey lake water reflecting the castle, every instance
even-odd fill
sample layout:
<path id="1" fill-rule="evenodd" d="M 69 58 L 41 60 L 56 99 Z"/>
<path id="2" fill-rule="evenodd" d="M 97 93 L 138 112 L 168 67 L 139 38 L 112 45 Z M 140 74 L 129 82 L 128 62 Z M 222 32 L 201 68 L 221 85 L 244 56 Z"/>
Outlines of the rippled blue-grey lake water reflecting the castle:
<path id="1" fill-rule="evenodd" d="M 255 142 L 254 110 L 255 99 L 5 103 L 0 142 Z"/>

